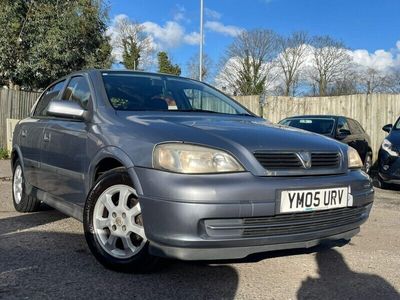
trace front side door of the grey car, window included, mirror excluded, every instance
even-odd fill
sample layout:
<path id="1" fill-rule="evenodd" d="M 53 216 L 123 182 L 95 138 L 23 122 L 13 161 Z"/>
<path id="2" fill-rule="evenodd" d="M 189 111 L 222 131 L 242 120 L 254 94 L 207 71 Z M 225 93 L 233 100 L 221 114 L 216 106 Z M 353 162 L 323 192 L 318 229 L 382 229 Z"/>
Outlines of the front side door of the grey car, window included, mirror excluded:
<path id="1" fill-rule="evenodd" d="M 63 101 L 75 101 L 88 109 L 92 101 L 89 82 L 84 76 L 74 76 L 62 95 Z M 47 191 L 65 201 L 82 204 L 86 199 L 85 172 L 88 124 L 82 120 L 51 118 L 44 131 L 42 168 Z"/>

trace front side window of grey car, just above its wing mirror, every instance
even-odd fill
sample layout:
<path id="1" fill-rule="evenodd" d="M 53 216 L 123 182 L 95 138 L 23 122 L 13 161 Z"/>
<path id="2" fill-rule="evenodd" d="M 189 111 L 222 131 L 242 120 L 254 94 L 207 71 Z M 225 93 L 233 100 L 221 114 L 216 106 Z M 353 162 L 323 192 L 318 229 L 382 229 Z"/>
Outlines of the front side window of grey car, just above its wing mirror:
<path id="1" fill-rule="evenodd" d="M 83 109 L 87 109 L 91 94 L 86 79 L 82 76 L 72 77 L 64 91 L 63 100 L 77 102 Z"/>

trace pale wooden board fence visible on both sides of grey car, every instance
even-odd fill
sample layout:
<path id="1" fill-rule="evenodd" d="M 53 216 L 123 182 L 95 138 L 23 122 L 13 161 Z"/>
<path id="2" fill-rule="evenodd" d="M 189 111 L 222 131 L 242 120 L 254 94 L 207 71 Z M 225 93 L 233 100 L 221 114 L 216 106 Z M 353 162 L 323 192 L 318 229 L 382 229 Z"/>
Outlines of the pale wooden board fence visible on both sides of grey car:
<path id="1" fill-rule="evenodd" d="M 7 146 L 7 119 L 22 119 L 29 115 L 39 93 L 0 88 L 0 148 Z M 400 95 L 374 94 L 339 97 L 267 97 L 263 105 L 259 96 L 235 97 L 257 115 L 276 123 L 304 114 L 343 115 L 358 120 L 371 136 L 374 157 L 386 133 L 382 126 L 394 123 L 400 116 Z"/>

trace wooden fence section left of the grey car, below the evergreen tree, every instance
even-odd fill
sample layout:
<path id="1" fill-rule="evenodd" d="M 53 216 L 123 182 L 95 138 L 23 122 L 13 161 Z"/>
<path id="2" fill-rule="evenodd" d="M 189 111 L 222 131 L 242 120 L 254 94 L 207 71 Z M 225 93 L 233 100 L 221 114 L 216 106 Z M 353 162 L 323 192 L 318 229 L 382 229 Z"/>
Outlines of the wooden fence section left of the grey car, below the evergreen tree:
<path id="1" fill-rule="evenodd" d="M 0 148 L 7 146 L 7 119 L 29 115 L 39 93 L 0 88 Z"/>

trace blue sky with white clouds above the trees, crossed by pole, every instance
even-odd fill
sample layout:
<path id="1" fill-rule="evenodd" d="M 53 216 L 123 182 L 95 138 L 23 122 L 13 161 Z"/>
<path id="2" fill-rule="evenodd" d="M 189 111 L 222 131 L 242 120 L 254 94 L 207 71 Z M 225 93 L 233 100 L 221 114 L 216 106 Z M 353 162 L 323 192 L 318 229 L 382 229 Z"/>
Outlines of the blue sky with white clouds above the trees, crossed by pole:
<path id="1" fill-rule="evenodd" d="M 110 18 L 127 15 L 145 23 L 155 42 L 183 67 L 198 53 L 199 0 L 110 0 Z M 393 55 L 400 61 L 399 0 L 204 0 L 205 52 L 218 62 L 240 29 L 268 28 L 279 34 L 304 30 L 328 34 L 365 59 Z M 369 57 L 367 57 L 369 56 Z M 386 61 L 387 63 L 387 61 Z"/>

